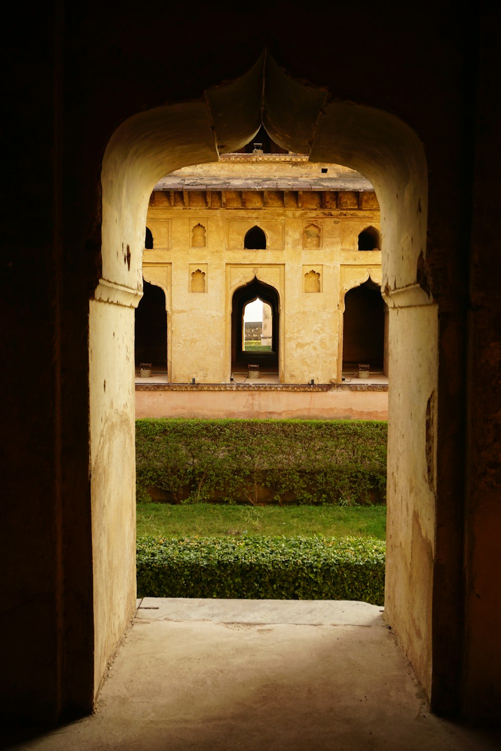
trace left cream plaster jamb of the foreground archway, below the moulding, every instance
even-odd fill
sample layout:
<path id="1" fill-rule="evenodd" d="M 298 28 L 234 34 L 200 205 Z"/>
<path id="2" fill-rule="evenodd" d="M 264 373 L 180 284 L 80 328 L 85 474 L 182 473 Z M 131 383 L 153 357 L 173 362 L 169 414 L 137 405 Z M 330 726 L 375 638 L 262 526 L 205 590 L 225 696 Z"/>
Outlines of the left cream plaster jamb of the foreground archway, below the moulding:
<path id="1" fill-rule="evenodd" d="M 134 307 L 91 300 L 89 330 L 97 692 L 135 609 Z"/>

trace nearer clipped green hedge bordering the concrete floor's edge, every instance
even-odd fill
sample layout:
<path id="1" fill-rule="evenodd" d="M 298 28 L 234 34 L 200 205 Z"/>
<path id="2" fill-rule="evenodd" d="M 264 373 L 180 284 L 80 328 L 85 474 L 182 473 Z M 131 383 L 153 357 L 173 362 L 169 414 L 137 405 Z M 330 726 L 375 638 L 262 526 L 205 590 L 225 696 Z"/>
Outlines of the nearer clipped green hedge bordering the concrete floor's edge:
<path id="1" fill-rule="evenodd" d="M 137 541 L 138 597 L 360 600 L 383 605 L 376 538 L 176 538 Z"/>

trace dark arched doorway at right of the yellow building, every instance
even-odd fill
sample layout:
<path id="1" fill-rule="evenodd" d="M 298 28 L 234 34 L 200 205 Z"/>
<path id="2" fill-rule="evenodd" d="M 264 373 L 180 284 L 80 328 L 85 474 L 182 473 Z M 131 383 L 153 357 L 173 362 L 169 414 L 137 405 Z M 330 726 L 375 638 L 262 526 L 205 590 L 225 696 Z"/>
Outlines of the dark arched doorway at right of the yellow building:
<path id="1" fill-rule="evenodd" d="M 368 363 L 382 369 L 385 315 L 381 290 L 365 285 L 346 292 L 343 315 L 343 367 Z"/>

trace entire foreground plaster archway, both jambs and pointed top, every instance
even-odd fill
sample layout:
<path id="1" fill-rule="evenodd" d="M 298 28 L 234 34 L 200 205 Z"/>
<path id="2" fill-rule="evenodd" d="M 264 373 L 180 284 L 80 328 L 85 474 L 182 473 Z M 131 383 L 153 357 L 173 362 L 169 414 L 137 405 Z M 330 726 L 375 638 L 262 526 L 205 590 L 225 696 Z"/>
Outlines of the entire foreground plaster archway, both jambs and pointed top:
<path id="1" fill-rule="evenodd" d="M 397 117 L 328 100 L 323 89 L 291 80 L 265 54 L 239 80 L 207 90 L 203 101 L 131 117 L 115 131 L 104 155 L 102 269 L 89 309 L 95 692 L 135 604 L 134 392 L 130 379 L 112 379 L 113 388 L 106 391 L 103 382 L 110 372 L 129 372 L 149 195 L 164 174 L 217 161 L 220 152 L 243 147 L 261 119 L 283 148 L 309 153 L 310 161 L 358 170 L 378 196 L 395 384 L 389 409 L 385 607 L 425 695 L 432 697 L 432 687 L 440 695 L 448 679 L 447 668 L 441 672 L 440 662 L 432 659 L 432 626 L 440 621 L 443 602 L 439 587 L 434 594 L 440 543 L 435 523 L 437 310 L 418 283 L 419 259 L 426 255 L 424 151 Z M 112 538 L 102 532 L 110 529 Z M 120 544 L 113 544 L 117 539 Z"/>

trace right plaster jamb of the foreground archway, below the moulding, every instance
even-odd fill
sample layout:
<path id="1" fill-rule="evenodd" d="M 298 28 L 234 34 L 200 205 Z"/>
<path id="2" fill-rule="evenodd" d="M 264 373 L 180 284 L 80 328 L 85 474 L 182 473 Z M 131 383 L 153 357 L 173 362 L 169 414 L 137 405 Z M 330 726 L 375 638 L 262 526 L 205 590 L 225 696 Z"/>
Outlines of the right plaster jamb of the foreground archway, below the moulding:
<path id="1" fill-rule="evenodd" d="M 385 618 L 395 627 L 422 685 L 430 691 L 430 583 L 436 556 L 437 308 L 419 304 L 390 307 L 389 318 L 388 416 L 393 423 L 388 430 L 392 459 L 388 466 Z"/>

